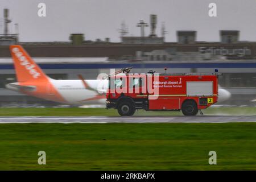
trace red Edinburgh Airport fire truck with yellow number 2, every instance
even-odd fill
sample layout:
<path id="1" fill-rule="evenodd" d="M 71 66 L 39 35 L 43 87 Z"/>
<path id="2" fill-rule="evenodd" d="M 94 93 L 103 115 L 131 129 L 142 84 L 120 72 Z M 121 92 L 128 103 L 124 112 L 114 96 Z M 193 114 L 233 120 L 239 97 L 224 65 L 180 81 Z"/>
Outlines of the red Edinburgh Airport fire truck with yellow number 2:
<path id="1" fill-rule="evenodd" d="M 130 71 L 130 70 L 129 70 Z M 196 115 L 218 101 L 220 73 L 181 73 L 109 76 L 106 109 L 133 115 L 136 109 L 182 111 Z"/>

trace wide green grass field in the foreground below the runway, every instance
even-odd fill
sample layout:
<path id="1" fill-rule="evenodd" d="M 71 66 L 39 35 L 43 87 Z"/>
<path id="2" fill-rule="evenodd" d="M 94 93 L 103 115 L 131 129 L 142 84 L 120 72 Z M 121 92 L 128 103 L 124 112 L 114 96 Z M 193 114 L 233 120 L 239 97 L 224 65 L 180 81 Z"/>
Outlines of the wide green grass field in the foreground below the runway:
<path id="1" fill-rule="evenodd" d="M 0 138 L 0 170 L 256 170 L 256 123 L 1 124 Z"/>

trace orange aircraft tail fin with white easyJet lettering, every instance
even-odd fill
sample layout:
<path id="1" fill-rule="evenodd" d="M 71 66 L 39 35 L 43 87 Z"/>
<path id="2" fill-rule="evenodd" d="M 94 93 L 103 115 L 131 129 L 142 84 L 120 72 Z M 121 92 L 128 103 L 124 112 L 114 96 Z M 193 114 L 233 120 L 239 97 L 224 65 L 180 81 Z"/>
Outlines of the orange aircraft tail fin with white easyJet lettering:
<path id="1" fill-rule="evenodd" d="M 22 46 L 10 46 L 11 56 L 13 57 L 16 78 L 18 82 L 32 80 L 46 80 L 47 75 L 28 55 Z"/>

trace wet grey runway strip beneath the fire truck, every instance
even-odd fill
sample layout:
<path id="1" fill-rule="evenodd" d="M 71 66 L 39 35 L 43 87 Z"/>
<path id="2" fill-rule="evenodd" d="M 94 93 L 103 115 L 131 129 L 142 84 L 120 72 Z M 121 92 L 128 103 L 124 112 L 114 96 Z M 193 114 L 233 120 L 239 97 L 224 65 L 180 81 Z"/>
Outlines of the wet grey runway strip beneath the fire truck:
<path id="1" fill-rule="evenodd" d="M 0 117 L 0 123 L 228 123 L 256 122 L 256 115 L 199 115 L 164 117 Z"/>

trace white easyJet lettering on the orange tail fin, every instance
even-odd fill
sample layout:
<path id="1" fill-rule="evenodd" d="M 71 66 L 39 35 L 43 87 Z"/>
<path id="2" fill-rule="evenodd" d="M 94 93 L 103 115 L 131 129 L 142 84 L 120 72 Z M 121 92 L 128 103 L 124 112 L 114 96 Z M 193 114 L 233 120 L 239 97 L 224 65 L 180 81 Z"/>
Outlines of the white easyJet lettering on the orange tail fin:
<path id="1" fill-rule="evenodd" d="M 35 69 L 35 65 L 30 64 L 30 62 L 23 55 L 23 53 L 19 51 L 19 48 L 15 47 L 12 49 L 12 51 L 15 54 L 15 56 L 18 58 L 20 65 L 24 66 L 28 70 L 30 75 L 33 76 L 33 78 L 38 78 L 40 76 L 40 73 Z"/>

